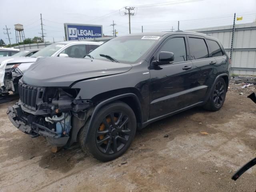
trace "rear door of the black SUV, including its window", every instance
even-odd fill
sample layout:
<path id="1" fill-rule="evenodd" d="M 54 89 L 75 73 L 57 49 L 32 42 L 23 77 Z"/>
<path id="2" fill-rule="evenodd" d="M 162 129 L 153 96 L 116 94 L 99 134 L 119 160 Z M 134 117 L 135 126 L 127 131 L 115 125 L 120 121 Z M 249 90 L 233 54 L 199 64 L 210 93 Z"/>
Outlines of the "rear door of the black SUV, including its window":
<path id="1" fill-rule="evenodd" d="M 210 90 L 215 79 L 214 65 L 217 64 L 214 58 L 210 58 L 206 39 L 202 36 L 188 35 L 188 46 L 190 58 L 193 62 L 193 82 L 200 88 L 194 102 L 204 101 L 206 93 Z"/>

